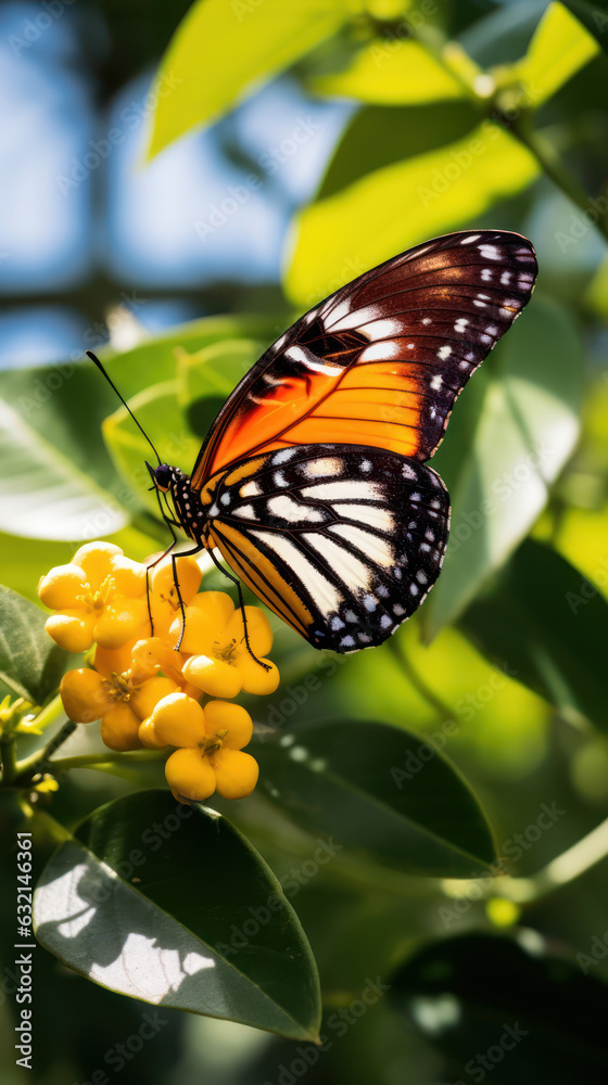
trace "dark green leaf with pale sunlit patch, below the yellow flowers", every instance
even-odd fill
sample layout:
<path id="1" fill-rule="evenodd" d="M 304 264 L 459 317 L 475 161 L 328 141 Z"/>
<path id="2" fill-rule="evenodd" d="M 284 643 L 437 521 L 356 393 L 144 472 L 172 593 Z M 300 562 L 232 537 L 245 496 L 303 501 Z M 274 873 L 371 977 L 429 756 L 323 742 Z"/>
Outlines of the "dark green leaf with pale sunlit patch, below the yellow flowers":
<path id="1" fill-rule="evenodd" d="M 154 1005 L 316 1039 L 318 976 L 273 871 L 226 818 L 139 792 L 96 810 L 47 865 L 38 941 Z"/>

